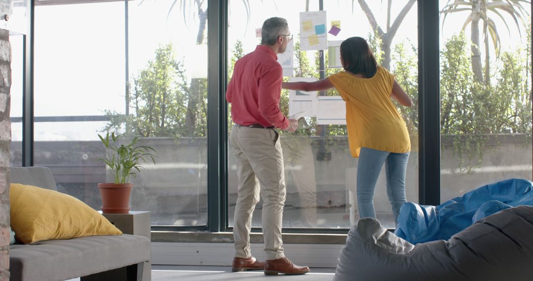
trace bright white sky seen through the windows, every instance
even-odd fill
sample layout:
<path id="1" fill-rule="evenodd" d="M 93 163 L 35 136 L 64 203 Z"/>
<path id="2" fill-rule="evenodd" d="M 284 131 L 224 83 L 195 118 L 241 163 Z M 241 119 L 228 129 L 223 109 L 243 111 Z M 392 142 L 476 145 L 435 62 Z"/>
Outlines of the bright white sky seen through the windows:
<path id="1" fill-rule="evenodd" d="M 207 48 L 197 46 L 198 19 L 195 9 L 183 16 L 179 7 L 169 9 L 172 0 L 139 0 L 129 4 L 129 63 L 130 80 L 154 58 L 158 46 L 173 42 L 178 59 L 185 57 L 185 66 L 192 72 L 207 69 Z M 189 3 L 189 1 L 185 1 Z M 207 2 L 207 1 L 205 1 Z M 300 29 L 300 12 L 305 11 L 305 0 L 249 0 L 250 16 L 247 18 L 243 0 L 230 1 L 229 49 L 236 40 L 243 41 L 245 53 L 253 51 L 259 43 L 255 29 L 271 16 L 286 18 L 289 29 L 296 35 Z M 311 0 L 310 11 L 318 10 L 318 0 Z M 352 12 L 352 2 L 354 2 Z M 441 7 L 447 1 L 441 0 Z M 368 0 L 378 23 L 386 23 L 387 1 Z M 395 0 L 392 19 L 395 19 L 407 0 Z M 351 36 L 367 37 L 368 20 L 357 1 L 324 0 L 327 11 L 326 24 L 341 21 L 338 36 L 328 34 L 328 40 L 343 40 Z M 529 11 L 529 6 L 527 7 Z M 458 33 L 467 12 L 448 16 L 441 33 L 441 46 L 446 39 Z M 507 17 L 508 18 L 508 17 Z M 510 18 L 508 18 L 510 22 Z M 124 2 L 108 2 L 77 5 L 38 6 L 35 9 L 35 116 L 102 115 L 103 110 L 124 113 Z M 514 23 L 507 33 L 505 25 L 496 19 L 500 27 L 503 49 L 523 45 L 525 30 L 520 38 Z M 470 28 L 466 30 L 470 38 Z M 417 5 L 413 5 L 393 45 L 404 41 L 417 46 Z M 206 40 L 207 41 L 207 40 Z M 13 64 L 11 116 L 22 112 L 22 42 L 12 39 Z M 312 53 L 311 53 L 312 54 Z M 229 54 L 231 57 L 231 54 Z M 96 140 L 103 122 L 61 122 L 35 124 L 35 140 Z M 20 127 L 20 128 L 19 128 Z M 13 140 L 21 139 L 21 125 L 13 124 Z"/>

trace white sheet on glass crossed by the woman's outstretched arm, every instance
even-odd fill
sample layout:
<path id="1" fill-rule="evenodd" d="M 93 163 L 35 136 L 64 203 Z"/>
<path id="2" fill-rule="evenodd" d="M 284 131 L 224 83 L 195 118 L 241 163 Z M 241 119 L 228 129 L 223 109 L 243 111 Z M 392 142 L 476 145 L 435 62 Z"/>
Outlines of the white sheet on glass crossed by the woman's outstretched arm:
<path id="1" fill-rule="evenodd" d="M 289 82 L 314 82 L 314 77 L 293 77 Z M 289 119 L 315 117 L 317 115 L 317 92 L 289 90 Z"/>

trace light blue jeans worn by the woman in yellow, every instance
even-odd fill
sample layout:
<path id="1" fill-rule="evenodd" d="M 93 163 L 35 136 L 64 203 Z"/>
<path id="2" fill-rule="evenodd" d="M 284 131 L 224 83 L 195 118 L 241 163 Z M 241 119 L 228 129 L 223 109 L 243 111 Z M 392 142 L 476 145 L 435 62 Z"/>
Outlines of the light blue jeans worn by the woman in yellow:
<path id="1" fill-rule="evenodd" d="M 407 160 L 409 160 L 409 152 L 392 153 L 361 147 L 357 164 L 357 204 L 361 218 L 376 218 L 374 189 L 381 167 L 385 163 L 387 196 L 392 205 L 394 221 L 398 222 L 400 207 L 407 202 L 405 196 Z"/>

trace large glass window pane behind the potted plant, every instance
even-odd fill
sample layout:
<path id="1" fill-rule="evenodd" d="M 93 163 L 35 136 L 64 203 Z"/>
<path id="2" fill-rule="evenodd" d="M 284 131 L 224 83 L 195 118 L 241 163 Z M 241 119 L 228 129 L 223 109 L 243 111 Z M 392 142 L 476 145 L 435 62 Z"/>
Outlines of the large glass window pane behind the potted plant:
<path id="1" fill-rule="evenodd" d="M 207 224 L 204 2 L 128 1 L 128 34 L 125 1 L 35 7 L 34 163 L 60 191 L 99 210 L 110 172 L 98 134 L 139 135 L 158 159 L 133 179 L 131 210 Z"/>

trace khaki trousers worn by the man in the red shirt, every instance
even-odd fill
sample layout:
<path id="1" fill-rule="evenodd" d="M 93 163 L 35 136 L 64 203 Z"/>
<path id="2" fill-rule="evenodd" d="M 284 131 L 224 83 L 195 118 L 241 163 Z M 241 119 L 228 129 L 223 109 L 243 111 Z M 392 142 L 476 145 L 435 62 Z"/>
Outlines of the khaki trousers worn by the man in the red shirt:
<path id="1" fill-rule="evenodd" d="M 266 259 L 283 258 L 285 255 L 281 241 L 281 224 L 286 191 L 279 135 L 274 129 L 233 126 L 230 144 L 237 160 L 239 181 L 233 218 L 235 257 L 248 258 L 252 255 L 252 213 L 261 194 L 261 222 Z"/>

